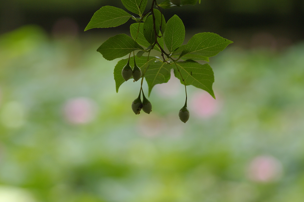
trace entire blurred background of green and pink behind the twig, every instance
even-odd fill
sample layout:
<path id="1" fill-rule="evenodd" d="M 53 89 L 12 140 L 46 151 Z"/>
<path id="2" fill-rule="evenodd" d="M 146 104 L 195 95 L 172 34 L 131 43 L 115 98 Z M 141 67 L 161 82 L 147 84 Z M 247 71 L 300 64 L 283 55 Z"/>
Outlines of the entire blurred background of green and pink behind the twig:
<path id="1" fill-rule="evenodd" d="M 139 83 L 116 93 L 122 58 L 96 49 L 134 21 L 83 32 L 105 5 L 123 8 L 0 1 L 0 202 L 303 201 L 303 0 L 163 10 L 183 20 L 185 42 L 199 32 L 234 41 L 210 58 L 216 100 L 188 86 L 186 124 L 174 76 L 152 90 L 150 114 L 131 110 Z"/>

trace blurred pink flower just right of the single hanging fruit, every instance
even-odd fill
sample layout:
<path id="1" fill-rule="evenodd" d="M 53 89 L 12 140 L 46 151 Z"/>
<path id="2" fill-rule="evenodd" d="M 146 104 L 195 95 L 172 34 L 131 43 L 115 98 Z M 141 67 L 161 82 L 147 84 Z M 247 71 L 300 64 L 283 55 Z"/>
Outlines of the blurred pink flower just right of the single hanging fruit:
<path id="1" fill-rule="evenodd" d="M 199 118 L 212 117 L 219 111 L 219 101 L 207 92 L 195 93 L 189 106 L 191 107 L 191 112 Z"/>

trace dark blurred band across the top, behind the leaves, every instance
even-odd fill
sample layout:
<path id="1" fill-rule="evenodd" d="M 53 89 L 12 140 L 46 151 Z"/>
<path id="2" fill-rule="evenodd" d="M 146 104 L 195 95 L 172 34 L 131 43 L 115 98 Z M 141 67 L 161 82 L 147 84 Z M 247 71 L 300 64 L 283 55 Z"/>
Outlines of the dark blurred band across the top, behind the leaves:
<path id="1" fill-rule="evenodd" d="M 84 30 L 92 14 L 104 5 L 124 8 L 118 0 L 2 0 L 0 33 L 26 24 L 39 25 L 50 33 L 58 19 L 68 17 L 78 23 L 79 33 L 85 35 L 86 33 L 81 30 Z M 302 0 L 206 0 L 200 5 L 174 7 L 164 11 L 166 19 L 174 14 L 180 16 L 188 30 L 218 33 L 236 43 L 259 31 L 268 32 L 275 37 L 288 38 L 292 43 L 304 39 L 304 1 Z M 129 21 L 116 28 L 93 29 L 89 32 L 121 32 L 121 30 L 127 32 L 130 24 Z M 246 46 L 246 43 L 243 45 Z"/>

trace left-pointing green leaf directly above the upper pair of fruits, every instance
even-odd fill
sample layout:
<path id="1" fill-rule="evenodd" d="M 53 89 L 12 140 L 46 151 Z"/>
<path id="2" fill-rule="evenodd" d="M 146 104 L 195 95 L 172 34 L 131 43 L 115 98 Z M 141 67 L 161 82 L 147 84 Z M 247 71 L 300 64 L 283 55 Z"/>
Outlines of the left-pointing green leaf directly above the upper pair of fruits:
<path id="1" fill-rule="evenodd" d="M 100 52 L 105 59 L 114 60 L 138 49 L 143 50 L 131 37 L 126 34 L 117 34 L 103 42 L 97 51 Z"/>

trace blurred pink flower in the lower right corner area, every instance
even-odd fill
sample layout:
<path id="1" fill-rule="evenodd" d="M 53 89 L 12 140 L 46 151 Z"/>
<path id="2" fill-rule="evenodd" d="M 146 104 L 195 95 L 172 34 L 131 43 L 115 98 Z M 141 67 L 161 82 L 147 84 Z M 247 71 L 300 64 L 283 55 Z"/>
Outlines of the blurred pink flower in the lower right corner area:
<path id="1" fill-rule="evenodd" d="M 248 177 L 255 182 L 272 182 L 282 175 L 282 163 L 272 156 L 257 156 L 249 165 Z"/>

